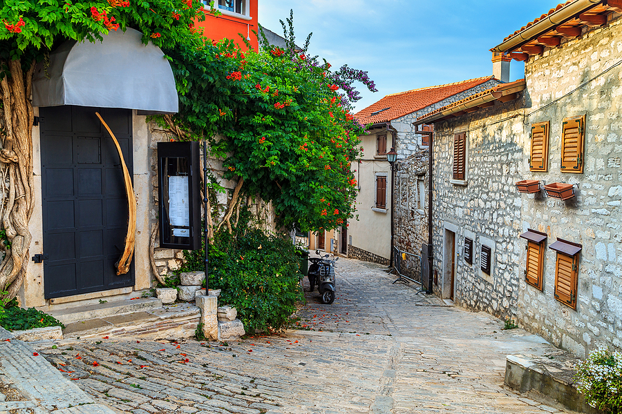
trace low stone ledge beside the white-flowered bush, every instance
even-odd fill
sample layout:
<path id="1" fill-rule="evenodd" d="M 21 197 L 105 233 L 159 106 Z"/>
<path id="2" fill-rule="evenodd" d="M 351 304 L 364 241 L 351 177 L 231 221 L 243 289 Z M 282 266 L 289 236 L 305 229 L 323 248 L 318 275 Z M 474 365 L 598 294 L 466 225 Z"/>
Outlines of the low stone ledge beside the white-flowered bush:
<path id="1" fill-rule="evenodd" d="M 549 355 L 507 355 L 505 384 L 525 393 L 531 400 L 563 407 L 576 413 L 598 414 L 601 411 L 585 402 L 574 384 L 574 365 L 580 362 L 566 351 Z"/>

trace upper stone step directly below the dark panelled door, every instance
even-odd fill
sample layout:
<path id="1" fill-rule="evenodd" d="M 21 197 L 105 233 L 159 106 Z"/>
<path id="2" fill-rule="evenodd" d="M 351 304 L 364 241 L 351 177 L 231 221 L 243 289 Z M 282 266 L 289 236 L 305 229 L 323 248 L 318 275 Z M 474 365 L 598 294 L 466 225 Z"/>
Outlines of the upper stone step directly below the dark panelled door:
<path id="1" fill-rule="evenodd" d="M 156 297 L 147 297 L 106 302 L 103 304 L 76 306 L 74 308 L 52 309 L 47 311 L 47 313 L 67 325 L 72 322 L 122 315 L 124 313 L 150 311 L 157 308 L 162 308 L 162 301 Z"/>

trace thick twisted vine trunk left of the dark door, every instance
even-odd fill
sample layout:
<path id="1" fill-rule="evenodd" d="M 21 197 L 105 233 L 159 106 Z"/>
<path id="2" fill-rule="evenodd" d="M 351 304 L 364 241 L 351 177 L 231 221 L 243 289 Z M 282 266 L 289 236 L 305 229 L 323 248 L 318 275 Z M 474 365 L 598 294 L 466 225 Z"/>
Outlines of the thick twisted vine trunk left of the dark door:
<path id="1" fill-rule="evenodd" d="M 0 81 L 3 130 L 0 134 L 0 243 L 6 255 L 0 264 L 0 288 L 5 299 L 12 299 L 23 281 L 28 266 L 28 248 L 32 239 L 28 222 L 34 209 L 32 172 L 32 121 L 30 102 L 35 63 L 23 71 L 21 61 L 0 61 L 8 68 Z"/>

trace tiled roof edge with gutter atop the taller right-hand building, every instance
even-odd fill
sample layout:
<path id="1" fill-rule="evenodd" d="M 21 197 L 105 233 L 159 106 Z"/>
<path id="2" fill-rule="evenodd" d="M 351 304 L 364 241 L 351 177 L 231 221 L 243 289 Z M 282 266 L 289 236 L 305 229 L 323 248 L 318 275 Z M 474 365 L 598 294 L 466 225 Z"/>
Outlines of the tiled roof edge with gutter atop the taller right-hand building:
<path id="1" fill-rule="evenodd" d="M 498 46 L 491 49 L 492 52 L 508 52 L 514 50 L 522 44 L 527 43 L 531 39 L 535 39 L 545 32 L 548 32 L 555 26 L 572 19 L 577 14 L 581 14 L 585 10 L 592 8 L 598 3 L 602 3 L 603 0 L 576 0 L 574 3 L 569 3 L 567 6 L 560 8 L 556 12 L 549 14 L 545 19 L 534 23 L 525 30 L 516 33 L 506 41 L 503 41 Z"/>

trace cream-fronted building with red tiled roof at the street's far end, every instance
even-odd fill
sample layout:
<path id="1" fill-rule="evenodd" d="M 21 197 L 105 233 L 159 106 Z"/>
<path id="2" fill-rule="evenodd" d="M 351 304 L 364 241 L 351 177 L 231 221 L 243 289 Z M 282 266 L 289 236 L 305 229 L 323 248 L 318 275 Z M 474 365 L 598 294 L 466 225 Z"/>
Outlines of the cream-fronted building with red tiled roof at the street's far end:
<path id="1" fill-rule="evenodd" d="M 496 75 L 500 77 L 500 73 Z M 398 162 L 395 177 L 393 210 L 395 242 L 400 248 L 416 253 L 427 233 L 412 233 L 402 224 L 422 224 L 425 210 L 425 166 L 427 142 L 417 134 L 413 122 L 430 110 L 487 90 L 500 84 L 495 75 L 400 92 L 380 99 L 359 111 L 355 117 L 369 126 L 361 137 L 365 155 L 352 169 L 359 183 L 357 221 L 348 227 L 348 257 L 389 264 L 391 246 L 390 165 L 386 152 L 395 148 Z M 420 161 L 414 168 L 405 160 Z M 424 164 L 421 164 L 423 162 Z M 421 165 L 420 165 L 421 164 Z M 420 226 L 424 230 L 425 226 Z M 370 237 L 373 235 L 373 237 Z M 412 266 L 411 266 L 412 267 Z"/>

